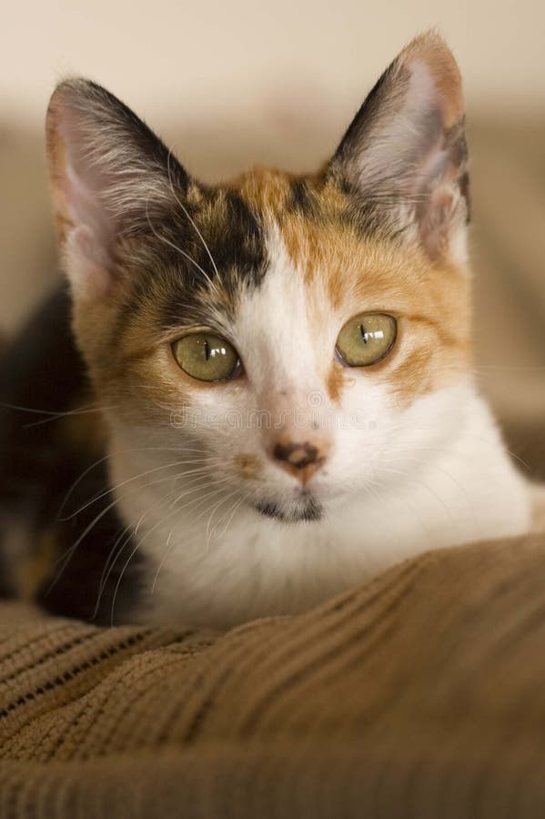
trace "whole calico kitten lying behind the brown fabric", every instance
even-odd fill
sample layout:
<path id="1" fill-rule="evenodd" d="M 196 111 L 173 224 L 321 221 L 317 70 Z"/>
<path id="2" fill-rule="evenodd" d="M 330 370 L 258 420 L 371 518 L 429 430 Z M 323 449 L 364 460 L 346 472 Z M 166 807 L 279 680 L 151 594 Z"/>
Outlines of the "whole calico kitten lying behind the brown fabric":
<path id="1" fill-rule="evenodd" d="M 439 36 L 401 52 L 313 176 L 202 185 L 81 79 L 52 97 L 47 150 L 70 298 L 6 356 L 3 400 L 64 414 L 5 411 L 12 586 L 98 622 L 227 627 L 528 531 L 472 372 L 464 112 Z"/>

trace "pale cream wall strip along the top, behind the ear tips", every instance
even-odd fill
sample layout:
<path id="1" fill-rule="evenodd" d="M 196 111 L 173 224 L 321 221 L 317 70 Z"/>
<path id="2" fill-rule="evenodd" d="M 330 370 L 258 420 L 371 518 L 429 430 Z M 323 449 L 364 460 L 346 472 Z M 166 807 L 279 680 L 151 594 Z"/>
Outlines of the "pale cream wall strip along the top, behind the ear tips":
<path id="1" fill-rule="evenodd" d="M 3 0 L 0 112 L 39 122 L 59 76 L 92 76 L 156 122 L 220 107 L 351 111 L 437 25 L 475 106 L 545 108 L 541 0 Z"/>

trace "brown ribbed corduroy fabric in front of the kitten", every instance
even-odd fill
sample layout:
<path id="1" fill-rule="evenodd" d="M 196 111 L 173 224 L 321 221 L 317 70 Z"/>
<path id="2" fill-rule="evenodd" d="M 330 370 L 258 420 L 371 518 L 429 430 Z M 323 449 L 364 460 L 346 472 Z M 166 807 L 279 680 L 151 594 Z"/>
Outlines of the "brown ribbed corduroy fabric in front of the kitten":
<path id="1" fill-rule="evenodd" d="M 2 817 L 545 815 L 545 537 L 227 634 L 0 607 Z"/>

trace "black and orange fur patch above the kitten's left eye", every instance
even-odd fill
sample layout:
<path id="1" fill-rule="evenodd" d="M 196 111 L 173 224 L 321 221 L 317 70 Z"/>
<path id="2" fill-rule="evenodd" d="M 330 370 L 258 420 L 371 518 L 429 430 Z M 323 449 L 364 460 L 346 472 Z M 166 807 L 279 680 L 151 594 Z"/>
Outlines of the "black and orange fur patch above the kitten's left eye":
<path id="1" fill-rule="evenodd" d="M 131 270 L 113 340 L 142 308 L 153 311 L 162 330 L 206 324 L 217 309 L 232 318 L 241 288 L 258 288 L 263 281 L 268 266 L 263 226 L 237 191 L 207 190 L 198 205 L 184 207 L 175 204 L 154 219 L 146 235 L 132 240 L 131 253 L 141 261 Z"/>

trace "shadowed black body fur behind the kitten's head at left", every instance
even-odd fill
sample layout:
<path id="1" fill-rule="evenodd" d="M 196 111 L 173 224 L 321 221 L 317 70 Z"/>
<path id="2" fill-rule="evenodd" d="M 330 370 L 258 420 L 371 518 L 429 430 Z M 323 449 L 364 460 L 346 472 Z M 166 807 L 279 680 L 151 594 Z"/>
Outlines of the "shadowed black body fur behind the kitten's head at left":
<path id="1" fill-rule="evenodd" d="M 70 331 L 70 300 L 59 289 L 0 360 L 0 518 L 4 510 L 25 522 L 35 549 L 22 560 L 32 563 L 45 542 L 54 543 L 50 572 L 36 590 L 45 609 L 109 623 L 117 581 L 133 547 L 126 543 L 96 609 L 106 560 L 123 525 L 115 508 L 106 511 L 109 494 L 89 503 L 108 488 L 105 452 L 73 440 L 75 417 L 66 414 L 88 407 L 89 396 Z M 0 532 L 0 553 L 2 537 Z M 116 621 L 126 620 L 136 605 L 142 570 L 138 553 L 117 590 Z"/>

